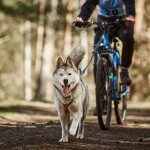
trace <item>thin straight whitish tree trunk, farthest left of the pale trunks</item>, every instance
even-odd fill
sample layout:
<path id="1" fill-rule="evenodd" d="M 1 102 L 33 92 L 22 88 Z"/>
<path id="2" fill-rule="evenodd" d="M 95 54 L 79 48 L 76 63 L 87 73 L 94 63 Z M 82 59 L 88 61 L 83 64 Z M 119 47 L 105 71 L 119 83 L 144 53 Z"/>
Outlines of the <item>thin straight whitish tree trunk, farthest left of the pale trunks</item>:
<path id="1" fill-rule="evenodd" d="M 25 32 L 25 100 L 32 99 L 31 83 L 31 22 L 26 21 L 24 25 Z"/>

